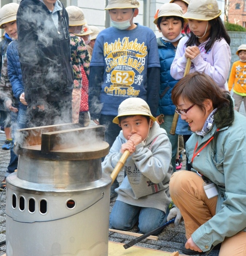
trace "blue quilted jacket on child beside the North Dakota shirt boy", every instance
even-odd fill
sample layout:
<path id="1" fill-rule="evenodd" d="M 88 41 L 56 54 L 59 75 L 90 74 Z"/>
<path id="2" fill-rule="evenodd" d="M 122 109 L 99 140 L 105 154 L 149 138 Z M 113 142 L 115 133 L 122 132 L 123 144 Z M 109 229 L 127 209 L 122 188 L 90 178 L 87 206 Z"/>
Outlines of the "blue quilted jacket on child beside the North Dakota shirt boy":
<path id="1" fill-rule="evenodd" d="M 174 115 L 175 105 L 171 100 L 172 89 L 178 80 L 171 77 L 170 68 L 175 57 L 176 48 L 170 42 L 157 38 L 160 59 L 160 98 L 157 115 Z"/>

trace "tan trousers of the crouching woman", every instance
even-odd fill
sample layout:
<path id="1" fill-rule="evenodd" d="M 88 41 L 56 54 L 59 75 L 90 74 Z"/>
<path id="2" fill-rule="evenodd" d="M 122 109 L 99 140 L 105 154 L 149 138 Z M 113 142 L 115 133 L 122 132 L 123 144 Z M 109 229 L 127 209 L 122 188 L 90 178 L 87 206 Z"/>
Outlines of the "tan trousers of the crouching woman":
<path id="1" fill-rule="evenodd" d="M 192 171 L 174 172 L 169 183 L 173 202 L 184 218 L 186 238 L 215 215 L 217 197 L 208 199 L 203 179 Z M 246 232 L 226 238 L 219 256 L 246 256 Z"/>

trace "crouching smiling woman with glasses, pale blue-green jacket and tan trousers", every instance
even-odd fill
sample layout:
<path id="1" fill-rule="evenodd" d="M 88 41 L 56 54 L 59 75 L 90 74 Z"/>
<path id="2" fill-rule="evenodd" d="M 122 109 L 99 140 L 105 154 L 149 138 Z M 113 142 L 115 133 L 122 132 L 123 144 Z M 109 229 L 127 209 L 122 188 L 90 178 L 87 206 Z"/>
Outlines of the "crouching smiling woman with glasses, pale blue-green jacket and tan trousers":
<path id="1" fill-rule="evenodd" d="M 172 90 L 177 113 L 194 132 L 186 143 L 192 171 L 173 173 L 169 187 L 184 218 L 186 254 L 220 256 L 246 252 L 246 117 L 234 110 L 228 92 L 194 72 Z"/>

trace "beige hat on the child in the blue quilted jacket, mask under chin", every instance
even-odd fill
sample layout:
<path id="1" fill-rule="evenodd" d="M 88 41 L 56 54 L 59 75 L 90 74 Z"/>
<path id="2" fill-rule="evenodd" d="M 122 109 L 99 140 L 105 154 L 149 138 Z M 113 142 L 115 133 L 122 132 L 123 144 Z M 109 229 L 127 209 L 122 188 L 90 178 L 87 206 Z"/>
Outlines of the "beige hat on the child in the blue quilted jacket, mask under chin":
<path id="1" fill-rule="evenodd" d="M 158 24 L 158 19 L 160 17 L 167 17 L 167 16 L 177 16 L 183 18 L 183 11 L 182 8 L 174 3 L 166 3 L 161 5 L 161 8 L 157 11 L 157 16 L 155 15 L 154 23 Z M 184 19 L 184 22 L 188 22 L 187 19 Z"/>

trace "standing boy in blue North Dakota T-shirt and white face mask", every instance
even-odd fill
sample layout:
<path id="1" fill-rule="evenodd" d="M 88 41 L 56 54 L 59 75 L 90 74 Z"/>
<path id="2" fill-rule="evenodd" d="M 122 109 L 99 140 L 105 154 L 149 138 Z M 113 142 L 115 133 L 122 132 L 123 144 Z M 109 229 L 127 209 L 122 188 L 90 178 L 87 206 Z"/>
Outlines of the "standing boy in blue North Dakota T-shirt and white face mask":
<path id="1" fill-rule="evenodd" d="M 109 0 L 112 27 L 97 36 L 90 64 L 89 112 L 96 124 L 106 126 L 106 141 L 111 147 L 120 132 L 113 124 L 118 106 L 129 97 L 147 101 L 155 116 L 160 85 L 160 61 L 156 36 L 148 28 L 134 23 L 138 1 Z M 111 199 L 116 196 L 111 187 Z"/>

